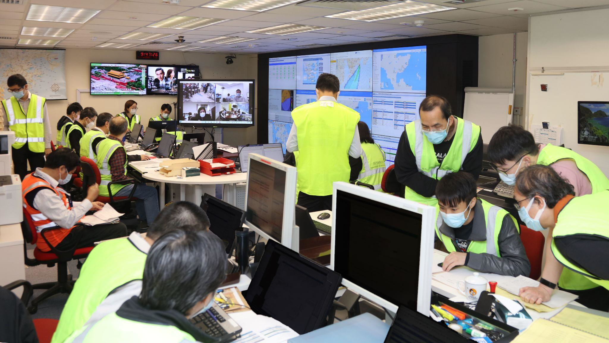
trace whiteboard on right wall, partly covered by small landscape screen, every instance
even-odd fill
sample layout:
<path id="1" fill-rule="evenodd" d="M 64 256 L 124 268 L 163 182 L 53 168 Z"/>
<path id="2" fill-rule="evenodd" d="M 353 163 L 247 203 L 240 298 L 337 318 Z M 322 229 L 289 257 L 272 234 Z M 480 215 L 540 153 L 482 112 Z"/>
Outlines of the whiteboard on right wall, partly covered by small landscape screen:
<path id="1" fill-rule="evenodd" d="M 531 125 L 549 121 L 563 128 L 563 143 L 576 153 L 590 159 L 609 175 L 609 146 L 577 143 L 577 101 L 609 101 L 609 73 L 571 72 L 556 76 L 529 76 L 529 116 Z M 542 92 L 540 84 L 547 84 Z M 606 87 L 606 88 L 605 88 Z"/>

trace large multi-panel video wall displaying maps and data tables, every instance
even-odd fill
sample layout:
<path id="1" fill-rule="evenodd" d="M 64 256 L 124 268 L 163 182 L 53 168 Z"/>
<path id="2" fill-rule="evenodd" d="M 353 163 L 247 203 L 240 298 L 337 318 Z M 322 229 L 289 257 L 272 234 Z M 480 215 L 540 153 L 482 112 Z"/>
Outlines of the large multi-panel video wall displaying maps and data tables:
<path id="1" fill-rule="evenodd" d="M 419 118 L 426 96 L 427 46 L 333 52 L 269 59 L 269 143 L 286 152 L 295 107 L 317 101 L 322 73 L 340 81 L 337 101 L 359 112 L 393 164 L 404 125 Z"/>

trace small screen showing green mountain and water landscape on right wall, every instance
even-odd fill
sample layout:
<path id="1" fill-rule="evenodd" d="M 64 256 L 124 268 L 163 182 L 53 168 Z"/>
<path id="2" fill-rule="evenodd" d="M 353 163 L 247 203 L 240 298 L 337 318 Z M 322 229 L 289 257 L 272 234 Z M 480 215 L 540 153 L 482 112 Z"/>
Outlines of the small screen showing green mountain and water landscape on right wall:
<path id="1" fill-rule="evenodd" d="M 577 143 L 609 146 L 609 101 L 577 101 Z"/>

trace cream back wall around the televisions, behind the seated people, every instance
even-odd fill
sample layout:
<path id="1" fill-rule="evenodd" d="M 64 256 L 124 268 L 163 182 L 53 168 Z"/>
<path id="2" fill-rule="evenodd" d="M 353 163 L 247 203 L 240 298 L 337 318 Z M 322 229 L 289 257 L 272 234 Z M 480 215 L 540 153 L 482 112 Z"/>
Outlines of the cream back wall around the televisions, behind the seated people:
<path id="1" fill-rule="evenodd" d="M 258 74 L 257 57 L 255 55 L 238 55 L 231 65 L 226 64 L 222 54 L 197 54 L 175 51 L 161 51 L 160 60 L 150 64 L 190 64 L 199 65 L 202 77 L 205 78 L 234 78 L 256 79 Z M 67 49 L 66 50 L 66 87 L 68 100 L 48 101 L 49 117 L 51 119 L 52 137 L 56 137 L 57 121 L 66 113 L 69 103 L 76 101 L 77 89 L 90 87 L 90 62 L 99 63 L 146 63 L 135 59 L 135 51 L 122 49 Z M 1 63 L 1 62 L 0 62 Z M 19 73 L 15 70 L 15 73 Z M 2 81 L 5 83 L 5 81 Z M 257 83 L 256 83 L 257 85 Z M 98 113 L 110 112 L 118 114 L 123 111 L 125 101 L 133 99 L 138 103 L 138 114 L 142 123 L 160 114 L 161 104 L 177 101 L 177 96 L 145 95 L 145 96 L 91 96 L 82 93 L 80 104 L 83 107 L 94 107 Z M 173 115 L 173 114 L 172 114 Z M 257 125 L 257 123 L 256 123 Z M 189 129 L 187 129 L 189 130 Z M 224 129 L 224 143 L 236 146 L 238 144 L 256 143 L 255 126 L 247 129 Z M 208 139 L 208 137 L 206 137 Z M 55 140 L 55 139 L 53 139 Z"/>

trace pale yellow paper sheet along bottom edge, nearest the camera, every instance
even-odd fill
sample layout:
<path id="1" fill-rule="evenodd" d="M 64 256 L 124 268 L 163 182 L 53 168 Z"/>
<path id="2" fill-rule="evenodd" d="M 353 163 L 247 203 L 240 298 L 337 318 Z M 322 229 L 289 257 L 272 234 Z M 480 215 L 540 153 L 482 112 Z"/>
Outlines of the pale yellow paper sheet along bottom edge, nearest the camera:
<path id="1" fill-rule="evenodd" d="M 547 319 L 535 320 L 527 330 L 516 336 L 512 343 L 607 343 L 593 334 L 565 327 Z"/>

